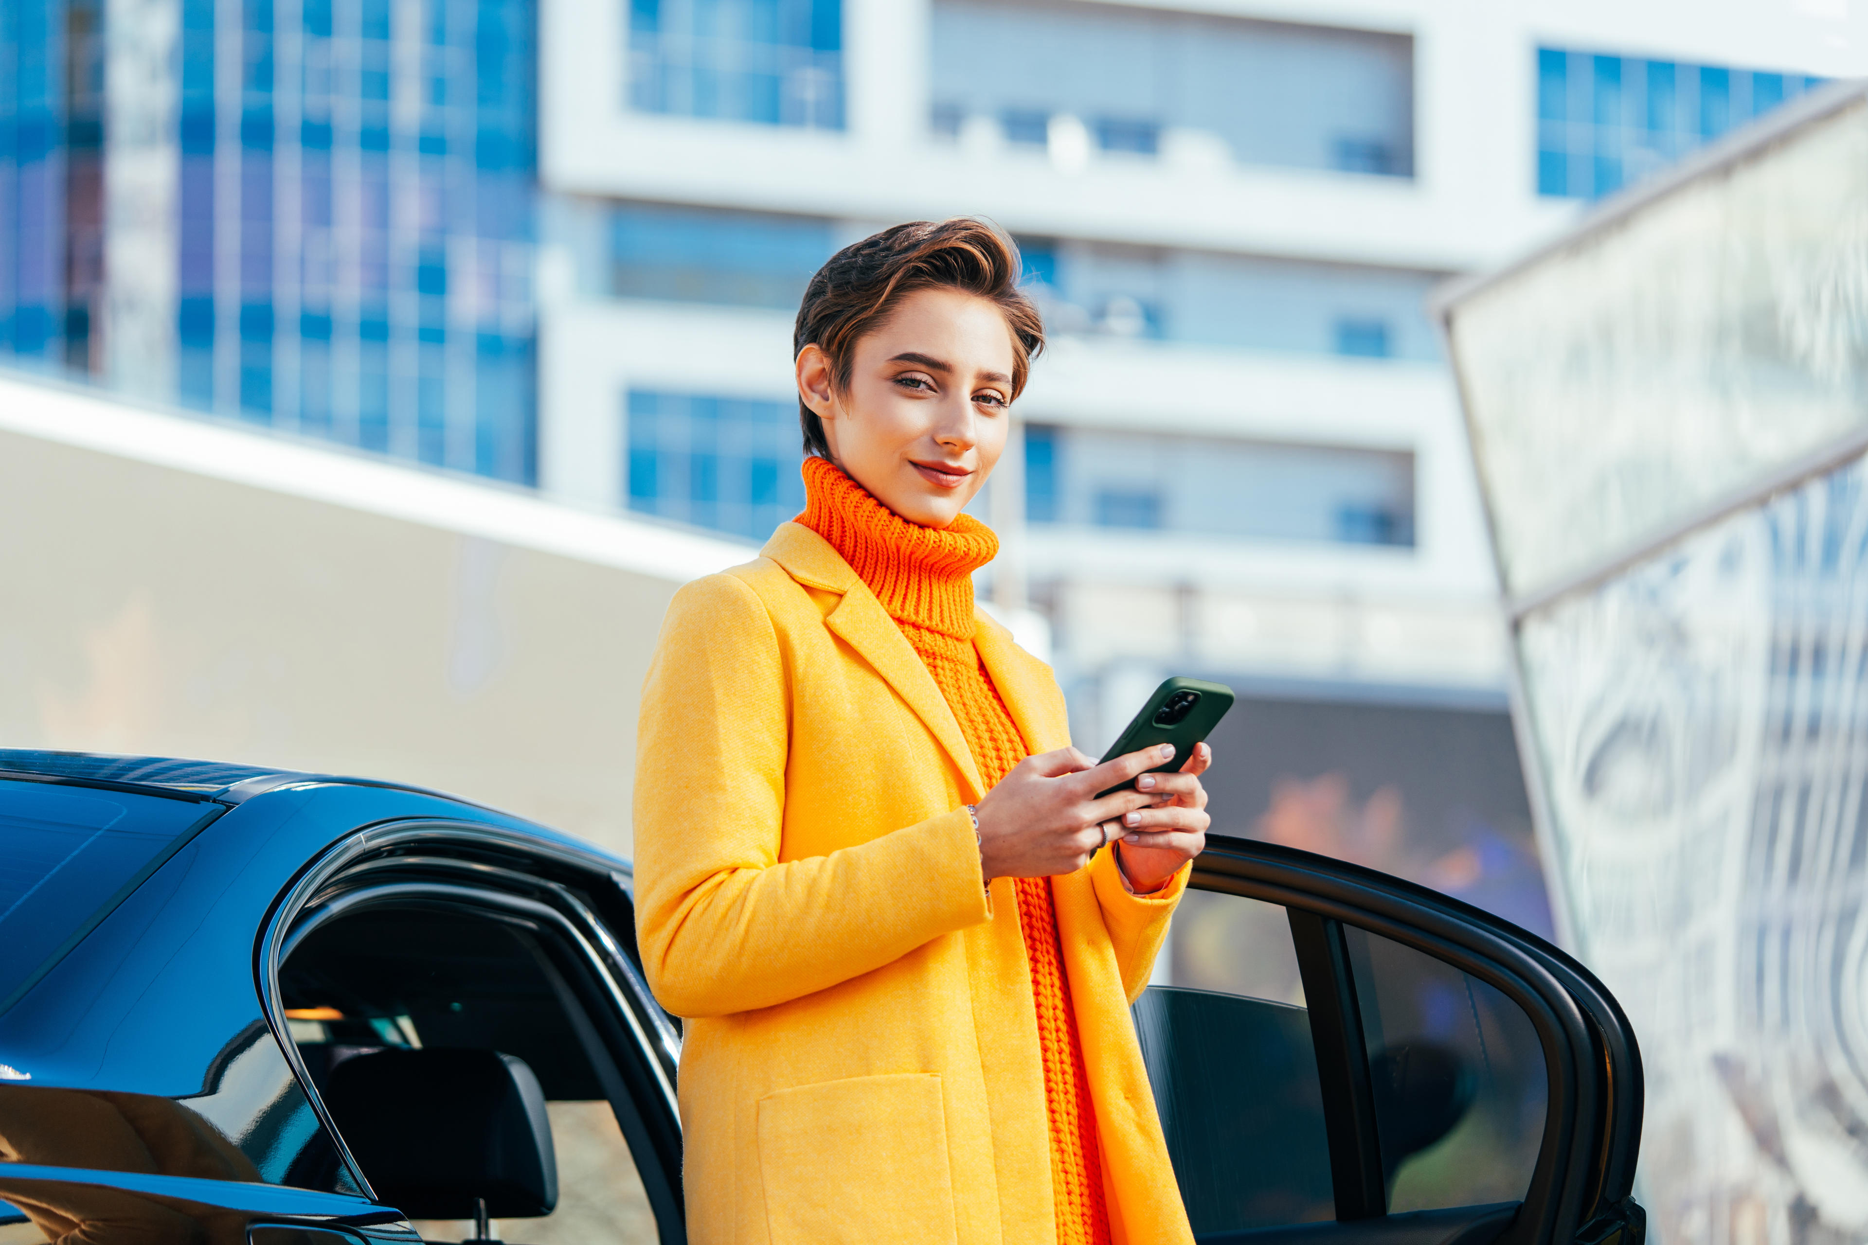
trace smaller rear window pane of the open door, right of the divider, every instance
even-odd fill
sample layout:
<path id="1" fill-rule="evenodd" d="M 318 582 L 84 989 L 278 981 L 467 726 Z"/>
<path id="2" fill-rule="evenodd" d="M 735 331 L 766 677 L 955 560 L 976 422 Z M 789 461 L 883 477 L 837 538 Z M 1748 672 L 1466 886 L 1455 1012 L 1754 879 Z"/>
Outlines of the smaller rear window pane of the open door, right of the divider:
<path id="1" fill-rule="evenodd" d="M 1388 1210 L 1524 1196 L 1549 1099 L 1530 1017 L 1485 982 L 1343 928 L 1375 1090 Z"/>

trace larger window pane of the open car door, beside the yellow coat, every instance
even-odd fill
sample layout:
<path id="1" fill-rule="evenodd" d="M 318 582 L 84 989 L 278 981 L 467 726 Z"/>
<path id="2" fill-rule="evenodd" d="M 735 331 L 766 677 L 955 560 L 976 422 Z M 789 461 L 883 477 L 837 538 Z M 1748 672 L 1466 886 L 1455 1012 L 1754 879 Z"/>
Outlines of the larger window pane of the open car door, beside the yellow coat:
<path id="1" fill-rule="evenodd" d="M 1188 890 L 1134 1017 L 1196 1236 L 1336 1215 L 1283 907 Z"/>

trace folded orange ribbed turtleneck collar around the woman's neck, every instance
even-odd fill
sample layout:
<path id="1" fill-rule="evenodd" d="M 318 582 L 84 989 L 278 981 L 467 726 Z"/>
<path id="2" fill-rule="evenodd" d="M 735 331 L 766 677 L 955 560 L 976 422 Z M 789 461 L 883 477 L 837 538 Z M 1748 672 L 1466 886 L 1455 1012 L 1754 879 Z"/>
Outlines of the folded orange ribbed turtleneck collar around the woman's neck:
<path id="1" fill-rule="evenodd" d="M 945 528 L 910 523 L 829 459 L 805 459 L 805 525 L 863 577 L 899 623 L 973 638 L 973 571 L 999 553 L 999 538 L 971 515 Z"/>

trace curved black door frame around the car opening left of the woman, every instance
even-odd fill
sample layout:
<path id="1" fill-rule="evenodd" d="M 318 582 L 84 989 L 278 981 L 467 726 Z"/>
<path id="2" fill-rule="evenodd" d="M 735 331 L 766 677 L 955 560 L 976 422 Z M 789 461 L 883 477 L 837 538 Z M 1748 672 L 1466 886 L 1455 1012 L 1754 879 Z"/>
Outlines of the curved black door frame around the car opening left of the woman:
<path id="1" fill-rule="evenodd" d="M 598 1075 L 605 1081 L 605 1094 L 648 1195 L 658 1238 L 663 1245 L 684 1243 L 682 1135 L 674 1096 L 680 1032 L 641 974 L 626 866 L 570 844 L 467 819 L 400 818 L 346 834 L 278 896 L 254 944 L 254 976 L 265 1019 L 362 1189 L 375 1198 L 291 1040 L 278 969 L 306 933 L 338 915 L 364 905 L 426 902 L 547 928 L 598 982 L 601 999 L 577 993 L 588 1014 L 585 1021 L 598 1028 L 594 1036 L 613 1060 L 613 1068 Z M 579 1025 L 575 1010 L 573 1025 Z M 613 1073 L 620 1075 L 620 1083 Z"/>

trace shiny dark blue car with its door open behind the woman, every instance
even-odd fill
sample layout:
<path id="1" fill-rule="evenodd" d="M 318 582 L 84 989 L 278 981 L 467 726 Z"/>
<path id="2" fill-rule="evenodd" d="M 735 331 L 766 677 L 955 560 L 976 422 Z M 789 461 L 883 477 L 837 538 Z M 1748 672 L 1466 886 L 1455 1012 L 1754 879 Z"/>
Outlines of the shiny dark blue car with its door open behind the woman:
<path id="1" fill-rule="evenodd" d="M 1640 1055 L 1586 969 L 1337 860 L 1196 864 L 1134 1014 L 1199 1239 L 1640 1245 Z M 0 1245 L 686 1241 L 678 1053 L 605 851 L 0 750 Z"/>

